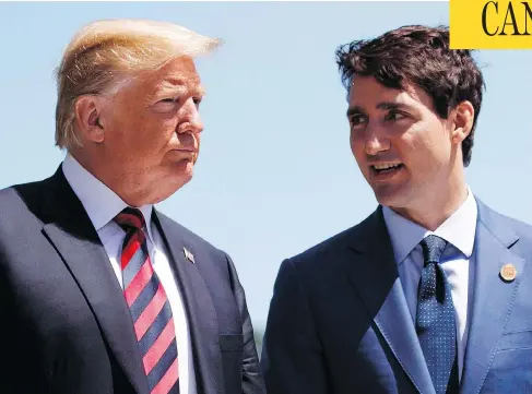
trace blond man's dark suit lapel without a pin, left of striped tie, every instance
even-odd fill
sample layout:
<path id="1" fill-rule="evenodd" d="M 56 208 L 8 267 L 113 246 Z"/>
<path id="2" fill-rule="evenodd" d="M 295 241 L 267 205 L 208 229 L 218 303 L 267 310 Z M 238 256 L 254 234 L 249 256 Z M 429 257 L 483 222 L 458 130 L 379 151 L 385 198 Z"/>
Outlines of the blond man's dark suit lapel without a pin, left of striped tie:
<path id="1" fill-rule="evenodd" d="M 43 231 L 61 255 L 85 295 L 117 362 L 138 394 L 147 394 L 131 315 L 109 259 L 83 205 L 70 189 L 62 170 L 52 177 L 45 196 L 50 222 Z"/>

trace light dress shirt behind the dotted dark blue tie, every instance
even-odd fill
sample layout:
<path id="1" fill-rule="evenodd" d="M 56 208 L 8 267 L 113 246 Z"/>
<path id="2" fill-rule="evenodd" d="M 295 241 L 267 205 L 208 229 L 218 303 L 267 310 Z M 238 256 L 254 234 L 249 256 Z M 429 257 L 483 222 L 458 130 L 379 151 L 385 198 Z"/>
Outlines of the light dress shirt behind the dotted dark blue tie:
<path id="1" fill-rule="evenodd" d="M 463 204 L 434 232 L 404 218 L 385 206 L 385 222 L 390 234 L 399 276 L 404 296 L 415 324 L 417 308 L 417 288 L 424 265 L 423 250 L 419 242 L 434 234 L 448 243 L 441 255 L 440 264 L 451 287 L 454 305 L 458 342 L 459 377 L 462 377 L 463 356 L 468 332 L 468 292 L 470 289 L 470 260 L 476 231 L 477 206 L 473 193 L 468 188 L 468 198 Z"/>

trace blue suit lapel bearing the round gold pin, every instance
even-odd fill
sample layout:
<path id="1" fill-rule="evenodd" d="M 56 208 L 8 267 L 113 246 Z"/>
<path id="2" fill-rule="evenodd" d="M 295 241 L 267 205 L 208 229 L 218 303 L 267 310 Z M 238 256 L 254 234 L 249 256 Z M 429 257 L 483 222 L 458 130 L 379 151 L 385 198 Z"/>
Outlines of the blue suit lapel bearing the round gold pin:
<path id="1" fill-rule="evenodd" d="M 482 387 L 524 271 L 524 260 L 509 250 L 519 238 L 496 215 L 478 201 L 471 326 L 461 386 L 464 394 L 478 393 Z M 517 268 L 513 282 L 500 278 L 500 267 L 505 264 Z"/>

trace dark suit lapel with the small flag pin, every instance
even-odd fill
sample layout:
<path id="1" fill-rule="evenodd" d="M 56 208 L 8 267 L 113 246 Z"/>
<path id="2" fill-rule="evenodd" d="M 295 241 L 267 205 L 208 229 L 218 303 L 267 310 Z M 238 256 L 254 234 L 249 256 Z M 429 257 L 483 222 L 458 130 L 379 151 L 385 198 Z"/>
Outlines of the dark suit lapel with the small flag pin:
<path id="1" fill-rule="evenodd" d="M 184 300 L 198 392 L 200 394 L 223 393 L 216 311 L 209 287 L 198 268 L 198 264 L 202 264 L 201 251 L 194 250 L 193 244 L 187 244 L 179 227 L 155 210 L 154 219 L 161 228 L 172 256 L 176 283 Z"/>

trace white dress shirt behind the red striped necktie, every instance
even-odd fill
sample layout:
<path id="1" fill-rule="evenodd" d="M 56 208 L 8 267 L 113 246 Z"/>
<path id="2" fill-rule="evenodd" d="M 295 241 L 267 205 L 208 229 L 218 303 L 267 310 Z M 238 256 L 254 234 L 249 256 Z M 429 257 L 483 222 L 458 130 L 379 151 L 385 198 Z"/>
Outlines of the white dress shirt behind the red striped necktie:
<path id="1" fill-rule="evenodd" d="M 123 289 L 122 272 L 120 270 L 120 253 L 126 231 L 118 226 L 113 218 L 128 206 L 113 190 L 83 168 L 70 154 L 67 154 L 62 163 L 64 176 L 80 199 L 91 222 L 96 229 L 105 251 L 109 256 L 120 287 Z M 176 342 L 179 355 L 179 392 L 184 394 L 197 394 L 196 375 L 192 362 L 192 350 L 181 296 L 174 278 L 168 253 L 164 247 L 161 234 L 152 222 L 152 205 L 139 207 L 147 226 L 143 231 L 146 236 L 147 250 L 153 270 L 168 297 L 174 324 L 176 329 Z M 146 228 L 147 227 L 147 228 Z M 97 263 L 97 262 L 95 262 Z"/>

